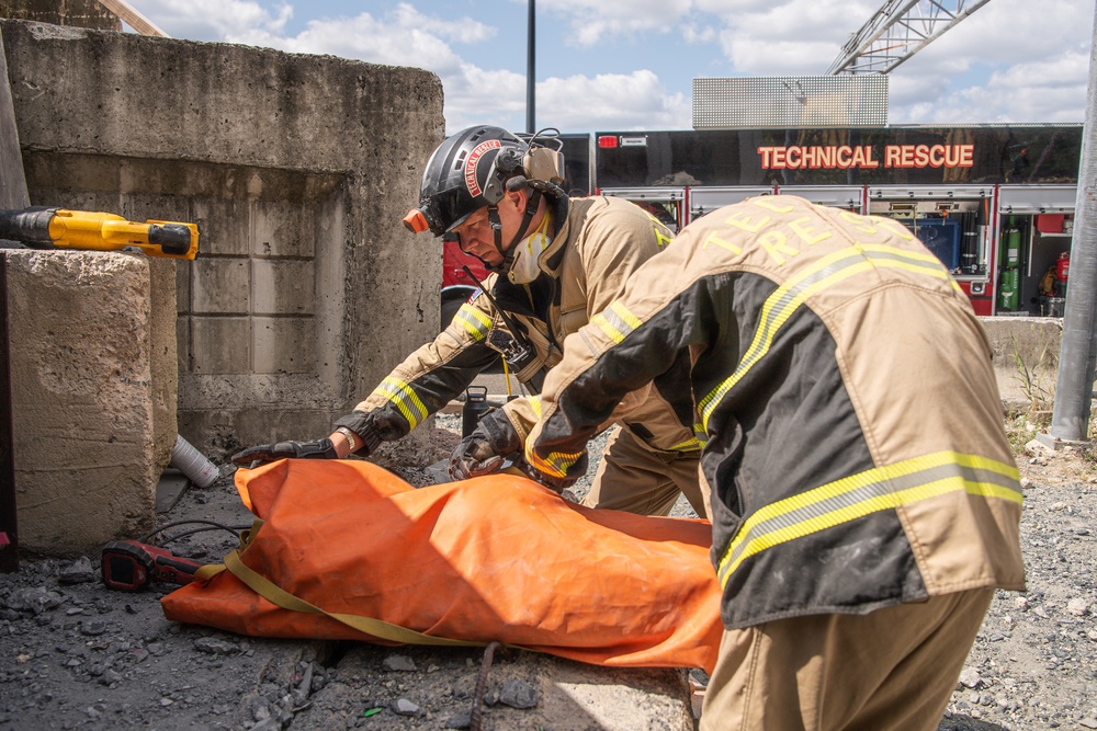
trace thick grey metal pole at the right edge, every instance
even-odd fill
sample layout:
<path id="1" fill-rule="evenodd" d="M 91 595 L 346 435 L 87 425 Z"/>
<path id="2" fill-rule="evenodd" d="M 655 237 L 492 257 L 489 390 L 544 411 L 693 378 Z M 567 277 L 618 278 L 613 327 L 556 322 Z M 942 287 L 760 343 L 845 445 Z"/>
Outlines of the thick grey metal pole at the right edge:
<path id="1" fill-rule="evenodd" d="M 1094 16 L 1097 41 L 1097 13 Z M 1055 378 L 1055 408 L 1050 436 L 1056 441 L 1084 441 L 1089 434 L 1094 390 L 1095 324 L 1097 324 L 1097 43 L 1089 52 L 1089 92 L 1083 127 L 1078 197 L 1071 242 L 1071 283 L 1066 289 L 1063 344 Z"/>

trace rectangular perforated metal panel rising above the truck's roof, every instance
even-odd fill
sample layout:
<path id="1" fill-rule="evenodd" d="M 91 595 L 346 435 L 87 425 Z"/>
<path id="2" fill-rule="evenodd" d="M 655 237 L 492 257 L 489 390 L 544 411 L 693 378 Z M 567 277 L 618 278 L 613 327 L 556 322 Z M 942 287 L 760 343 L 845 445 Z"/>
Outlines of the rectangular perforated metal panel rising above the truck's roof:
<path id="1" fill-rule="evenodd" d="M 882 127 L 887 77 L 693 79 L 694 129 Z"/>

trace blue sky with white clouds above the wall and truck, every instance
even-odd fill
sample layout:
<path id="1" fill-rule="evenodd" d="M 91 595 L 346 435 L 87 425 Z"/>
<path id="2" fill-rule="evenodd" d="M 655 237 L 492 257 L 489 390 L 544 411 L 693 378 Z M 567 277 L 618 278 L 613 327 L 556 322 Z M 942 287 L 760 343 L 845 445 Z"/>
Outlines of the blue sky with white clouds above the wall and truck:
<path id="1" fill-rule="evenodd" d="M 436 72 L 446 130 L 525 128 L 527 0 L 129 0 L 177 38 Z M 883 0 L 541 0 L 536 125 L 688 129 L 695 77 L 823 75 Z M 900 66 L 891 124 L 1082 122 L 1094 0 L 991 0 Z"/>

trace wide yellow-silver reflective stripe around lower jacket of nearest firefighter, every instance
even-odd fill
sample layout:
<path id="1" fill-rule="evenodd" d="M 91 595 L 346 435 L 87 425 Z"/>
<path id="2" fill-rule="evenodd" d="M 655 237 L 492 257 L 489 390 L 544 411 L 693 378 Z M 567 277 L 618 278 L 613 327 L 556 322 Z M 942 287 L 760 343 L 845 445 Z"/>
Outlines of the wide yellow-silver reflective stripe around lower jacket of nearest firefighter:
<path id="1" fill-rule="evenodd" d="M 927 498 L 965 491 L 1021 503 L 1013 465 L 955 452 L 938 452 L 858 475 L 766 505 L 744 521 L 716 568 L 721 585 L 767 548 Z"/>

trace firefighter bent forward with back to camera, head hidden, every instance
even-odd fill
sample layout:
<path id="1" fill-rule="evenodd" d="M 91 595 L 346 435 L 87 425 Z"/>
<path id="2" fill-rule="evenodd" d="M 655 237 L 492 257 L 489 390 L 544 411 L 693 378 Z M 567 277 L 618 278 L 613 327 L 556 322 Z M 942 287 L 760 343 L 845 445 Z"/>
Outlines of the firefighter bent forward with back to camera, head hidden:
<path id="1" fill-rule="evenodd" d="M 568 338 L 527 460 L 566 484 L 686 353 L 725 626 L 701 728 L 937 729 L 994 589 L 1025 582 L 957 283 L 896 221 L 789 196 L 715 210 Z"/>

